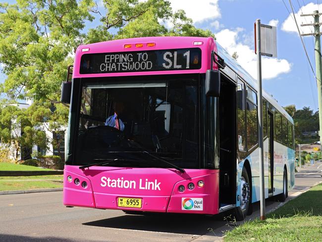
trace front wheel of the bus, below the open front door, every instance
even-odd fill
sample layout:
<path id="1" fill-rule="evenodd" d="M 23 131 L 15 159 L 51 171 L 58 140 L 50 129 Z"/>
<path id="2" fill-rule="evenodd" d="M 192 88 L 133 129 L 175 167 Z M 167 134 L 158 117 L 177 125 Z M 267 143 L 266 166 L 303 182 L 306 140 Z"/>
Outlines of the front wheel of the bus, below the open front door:
<path id="1" fill-rule="evenodd" d="M 242 221 L 251 213 L 251 192 L 250 181 L 246 168 L 243 168 L 241 182 L 240 182 L 240 206 L 235 208 L 235 219 Z"/>

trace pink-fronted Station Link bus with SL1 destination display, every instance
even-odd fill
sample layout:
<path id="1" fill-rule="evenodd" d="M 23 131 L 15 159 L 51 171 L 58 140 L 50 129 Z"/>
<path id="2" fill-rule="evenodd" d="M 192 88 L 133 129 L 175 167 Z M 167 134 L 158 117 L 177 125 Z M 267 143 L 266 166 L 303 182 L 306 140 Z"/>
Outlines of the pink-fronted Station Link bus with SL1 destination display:
<path id="1" fill-rule="evenodd" d="M 259 200 L 256 95 L 256 81 L 213 38 L 79 46 L 61 95 L 70 103 L 64 205 L 234 209 L 243 219 Z M 266 195 L 283 200 L 294 185 L 293 121 L 265 92 L 263 104 Z"/>

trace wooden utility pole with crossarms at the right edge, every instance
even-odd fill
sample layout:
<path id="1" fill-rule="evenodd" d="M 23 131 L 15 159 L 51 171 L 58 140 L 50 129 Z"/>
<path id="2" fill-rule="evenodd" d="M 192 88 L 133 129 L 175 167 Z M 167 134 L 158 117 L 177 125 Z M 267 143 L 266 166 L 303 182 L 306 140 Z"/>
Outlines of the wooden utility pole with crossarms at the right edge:
<path id="1" fill-rule="evenodd" d="M 314 33 L 311 34 L 301 34 L 301 36 L 308 36 L 308 35 L 314 35 L 315 37 L 315 65 L 316 65 L 316 77 L 317 77 L 317 85 L 318 85 L 318 102 L 319 102 L 319 122 L 320 122 L 320 146 L 322 150 L 322 62 L 321 62 L 321 39 L 320 36 L 322 32 L 320 32 L 320 15 L 322 13 L 319 13 L 318 10 L 315 10 L 312 14 L 301 14 L 301 16 L 313 16 L 314 17 L 314 23 L 308 23 L 308 24 L 301 24 L 301 26 L 314 26 Z"/>

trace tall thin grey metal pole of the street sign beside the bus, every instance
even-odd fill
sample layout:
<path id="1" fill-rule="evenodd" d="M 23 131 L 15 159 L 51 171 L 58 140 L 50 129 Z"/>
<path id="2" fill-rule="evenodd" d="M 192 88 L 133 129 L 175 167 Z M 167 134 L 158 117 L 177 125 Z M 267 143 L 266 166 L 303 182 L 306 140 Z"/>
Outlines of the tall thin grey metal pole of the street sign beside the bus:
<path id="1" fill-rule="evenodd" d="M 260 201 L 261 220 L 265 220 L 265 181 L 264 181 L 264 150 L 263 150 L 263 101 L 262 101 L 262 48 L 261 48 L 261 20 L 256 20 L 256 48 L 257 48 L 257 82 L 258 82 L 258 145 L 260 161 Z"/>

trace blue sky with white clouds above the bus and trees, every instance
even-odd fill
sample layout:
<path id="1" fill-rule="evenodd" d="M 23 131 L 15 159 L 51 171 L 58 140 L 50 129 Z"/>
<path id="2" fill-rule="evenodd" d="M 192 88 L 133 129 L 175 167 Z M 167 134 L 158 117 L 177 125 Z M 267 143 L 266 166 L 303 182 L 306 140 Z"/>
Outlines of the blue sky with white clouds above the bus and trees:
<path id="1" fill-rule="evenodd" d="M 4 0 L 0 0 L 2 2 Z M 5 0 L 7 1 L 7 0 Z M 102 5 L 98 0 L 98 5 Z M 140 0 L 144 1 L 144 0 Z M 263 88 L 281 106 L 295 104 L 296 109 L 310 107 L 318 111 L 318 94 L 315 75 L 309 67 L 301 39 L 293 19 L 289 0 L 169 0 L 173 10 L 183 9 L 194 24 L 210 29 L 216 41 L 229 54 L 237 52 L 237 61 L 256 79 L 254 53 L 254 22 L 277 27 L 277 58 L 263 57 Z M 8 0 L 12 3 L 13 0 Z M 311 23 L 313 17 L 302 13 L 322 11 L 319 0 L 292 0 L 298 24 Z M 322 20 L 320 20 L 321 22 Z M 89 23 L 94 27 L 98 20 Z M 301 33 L 311 33 L 312 27 L 300 27 Z M 303 37 L 309 59 L 315 71 L 314 37 Z M 0 82 L 5 75 L 0 73 Z"/>

